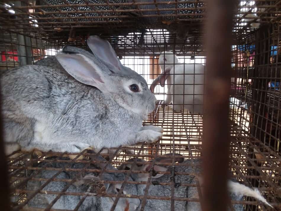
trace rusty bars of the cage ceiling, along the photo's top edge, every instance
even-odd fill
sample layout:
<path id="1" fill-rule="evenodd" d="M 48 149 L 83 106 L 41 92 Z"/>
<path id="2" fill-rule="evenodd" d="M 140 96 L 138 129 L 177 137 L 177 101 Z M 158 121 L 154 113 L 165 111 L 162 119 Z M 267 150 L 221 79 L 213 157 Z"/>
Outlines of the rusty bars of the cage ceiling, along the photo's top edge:
<path id="1" fill-rule="evenodd" d="M 3 1 L 3 4 L 1 4 L 1 9 L 5 9 L 4 4 L 11 3 L 12 0 L 5 0 Z M 69 4 L 67 1 L 63 1 L 65 4 L 56 4 L 56 5 L 34 5 L 34 2 L 23 2 L 25 5 L 23 6 L 16 6 L 12 5 L 9 9 L 15 10 L 16 14 L 10 14 L 9 12 L 3 12 L 0 14 L 1 18 L 1 26 L 5 30 L 17 30 L 17 32 L 20 32 L 19 30 L 24 30 L 26 35 L 29 34 L 29 32 L 35 33 L 36 35 L 42 35 L 43 32 L 45 32 L 45 36 L 48 35 L 49 39 L 52 39 L 54 36 L 60 36 L 58 32 L 69 32 L 72 27 L 78 28 L 79 31 L 77 33 L 82 33 L 84 30 L 88 30 L 88 32 L 93 33 L 102 33 L 105 32 L 103 30 L 103 25 L 112 25 L 113 28 L 134 28 L 135 30 L 138 30 L 140 27 L 142 28 L 143 25 L 136 25 L 134 22 L 138 23 L 138 20 L 132 20 L 131 15 L 127 15 L 126 13 L 134 12 L 139 13 L 140 18 L 145 17 L 175 17 L 175 23 L 183 22 L 181 24 L 184 24 L 193 30 L 198 29 L 196 25 L 202 25 L 202 22 L 205 21 L 204 17 L 198 17 L 198 14 L 195 13 L 196 10 L 200 9 L 204 11 L 206 9 L 205 2 L 206 1 L 196 1 L 196 4 L 203 4 L 203 7 L 189 7 L 189 8 L 182 8 L 177 7 L 177 4 L 179 4 L 177 1 L 150 1 L 150 2 L 132 2 L 132 3 L 109 3 L 107 1 L 104 1 L 104 3 L 99 4 L 91 4 L 88 1 L 85 2 L 85 4 Z M 191 4 L 194 1 L 181 1 L 180 4 Z M 264 4 L 260 5 L 259 3 L 262 2 Z M 273 3 L 272 3 L 273 2 Z M 158 8 L 158 5 L 175 5 L 175 8 L 169 8 L 169 11 L 174 11 L 174 14 L 159 14 L 160 11 L 167 11 L 166 8 Z M 155 5 L 155 9 L 139 9 L 139 6 L 143 5 Z M 91 10 L 87 11 L 80 11 L 77 8 L 78 7 L 91 7 Z M 110 10 L 97 10 L 95 7 L 97 6 L 109 6 Z M 59 7 L 69 7 L 72 8 L 73 11 L 62 11 L 59 9 Z M 118 7 L 119 9 L 114 9 L 113 7 Z M 121 7 L 121 9 L 120 9 Z M 122 9 L 122 7 L 127 7 Z M 136 9 L 130 9 L 132 7 L 136 7 Z M 44 11 L 43 9 L 46 8 L 53 8 L 53 12 Z M 248 9 L 245 11 L 244 9 Z M 6 8 L 7 9 L 7 8 Z M 32 12 L 27 10 L 30 9 Z M 255 9 L 258 9 L 258 11 L 254 11 Z M 265 9 L 265 11 L 260 11 L 260 9 Z M 36 12 L 35 12 L 36 10 Z M 188 14 L 181 14 L 179 11 L 193 11 Z M 72 13 L 79 13 L 81 14 L 80 17 L 71 17 L 70 15 Z M 88 20 L 88 21 L 71 21 L 68 22 L 66 19 L 72 19 L 72 20 L 78 20 L 81 18 L 89 18 L 87 13 L 89 12 L 95 12 L 99 14 L 98 16 L 91 17 L 91 19 L 100 19 L 103 20 Z M 104 15 L 105 12 L 112 12 L 115 15 Z M 143 14 L 144 12 L 155 12 L 155 14 Z M 280 15 L 280 4 L 278 1 L 256 1 L 255 4 L 249 4 L 247 1 L 244 5 L 238 5 L 238 9 L 236 10 L 236 13 L 238 16 L 234 18 L 236 22 L 247 22 L 247 26 L 250 23 L 268 23 L 268 22 L 275 22 L 279 20 Z M 49 15 L 49 17 L 41 17 L 41 15 Z M 67 17 L 59 17 L 60 15 L 65 14 Z M 257 14 L 261 15 L 262 19 L 253 19 L 253 20 L 246 20 L 245 16 L 248 14 Z M 29 17 L 25 17 L 25 15 L 29 15 Z M 12 18 L 12 17 L 17 17 Z M 190 17 L 190 18 L 188 18 Z M 111 18 L 111 20 L 109 20 Z M 115 20 L 118 19 L 118 20 Z M 190 21 L 192 19 L 192 21 Z M 39 21 L 40 20 L 40 21 Z M 52 22 L 51 20 L 56 20 L 56 22 Z M 62 20 L 62 21 L 59 21 Z M 26 22 L 25 22 L 26 21 Z M 38 22 L 36 22 L 38 21 Z M 29 23 L 30 22 L 30 23 Z M 171 24 L 171 23 L 169 23 Z M 172 23 L 173 24 L 173 23 Z M 37 25 L 38 27 L 36 27 Z M 54 30 L 54 25 L 56 26 L 56 30 Z M 75 25 L 75 26 L 74 26 Z M 79 26 L 78 26 L 79 25 Z M 94 25 L 94 26 L 93 26 Z M 149 24 L 144 24 L 146 27 L 149 27 Z M 162 26 L 162 28 L 167 27 L 167 25 L 159 22 L 159 27 Z M 243 25 L 242 25 L 243 26 Z M 242 32 L 249 30 L 248 27 L 242 27 L 242 29 L 239 28 L 238 25 L 237 28 L 239 29 L 238 33 L 242 34 Z M 40 28 L 40 30 L 39 30 Z M 93 29 L 98 28 L 98 31 Z M 189 32 L 192 32 L 193 30 L 189 30 Z M 252 29 L 251 29 L 252 30 Z M 47 34 L 46 34 L 47 33 Z M 84 33 L 84 32 L 83 32 Z M 117 33 L 117 30 L 114 31 L 114 33 Z M 53 39 L 55 40 L 55 39 Z"/>

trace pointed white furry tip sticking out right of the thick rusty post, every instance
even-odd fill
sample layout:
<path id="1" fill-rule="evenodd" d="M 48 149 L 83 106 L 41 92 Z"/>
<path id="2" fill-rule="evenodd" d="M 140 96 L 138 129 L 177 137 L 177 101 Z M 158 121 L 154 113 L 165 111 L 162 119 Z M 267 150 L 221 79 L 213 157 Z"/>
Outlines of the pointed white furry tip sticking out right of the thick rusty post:
<path id="1" fill-rule="evenodd" d="M 261 202 L 264 202 L 264 204 L 267 204 L 268 206 L 272 207 L 267 200 L 261 195 L 258 189 L 251 189 L 245 185 L 242 185 L 238 182 L 232 182 L 228 181 L 228 190 L 236 195 L 242 194 L 245 196 L 252 196 L 256 199 L 259 199 Z"/>

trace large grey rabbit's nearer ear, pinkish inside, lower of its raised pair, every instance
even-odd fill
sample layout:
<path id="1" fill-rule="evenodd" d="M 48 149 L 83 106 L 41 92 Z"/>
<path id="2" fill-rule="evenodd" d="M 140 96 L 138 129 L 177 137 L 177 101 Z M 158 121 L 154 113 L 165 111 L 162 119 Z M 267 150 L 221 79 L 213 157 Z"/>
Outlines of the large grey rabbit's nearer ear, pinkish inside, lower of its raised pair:
<path id="1" fill-rule="evenodd" d="M 79 82 L 94 86 L 102 92 L 109 92 L 105 84 L 107 73 L 91 59 L 73 52 L 58 52 L 56 59 L 64 70 Z"/>

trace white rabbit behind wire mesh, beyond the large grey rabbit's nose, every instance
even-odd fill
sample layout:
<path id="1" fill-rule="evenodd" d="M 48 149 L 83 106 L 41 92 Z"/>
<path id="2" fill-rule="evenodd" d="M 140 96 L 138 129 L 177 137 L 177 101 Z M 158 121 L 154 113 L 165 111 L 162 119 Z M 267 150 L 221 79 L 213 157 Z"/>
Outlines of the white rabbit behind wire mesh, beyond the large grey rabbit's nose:
<path id="1" fill-rule="evenodd" d="M 154 92 L 158 83 L 164 87 L 167 80 L 167 97 L 162 104 L 173 102 L 175 112 L 186 108 L 192 114 L 203 113 L 204 65 L 180 63 L 169 51 L 161 52 L 159 64 L 162 73 L 152 82 L 150 90 Z"/>

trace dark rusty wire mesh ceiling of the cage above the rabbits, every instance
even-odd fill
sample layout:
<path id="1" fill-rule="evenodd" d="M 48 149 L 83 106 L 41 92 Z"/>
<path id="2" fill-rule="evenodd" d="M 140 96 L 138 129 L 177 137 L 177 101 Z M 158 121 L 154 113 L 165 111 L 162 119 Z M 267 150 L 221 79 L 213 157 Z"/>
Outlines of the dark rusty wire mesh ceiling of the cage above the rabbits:
<path id="1" fill-rule="evenodd" d="M 180 24 L 184 24 L 180 25 L 182 30 L 188 27 L 190 28 L 189 34 L 193 34 L 204 20 L 204 1 L 117 2 L 102 0 L 72 4 L 72 1 L 42 0 L 42 5 L 38 5 L 38 3 L 35 4 L 35 1 L 17 3 L 9 0 L 2 1 L 1 28 L 16 33 L 40 35 L 49 40 L 63 37 L 64 41 L 68 35 L 73 36 L 74 30 L 77 31 L 77 36 L 82 36 L 80 40 L 83 39 L 84 42 L 85 35 L 88 33 L 125 35 L 136 32 L 136 30 L 141 33 L 147 28 L 169 28 L 175 32 L 178 30 L 177 25 Z M 253 30 L 251 27 L 253 23 L 279 20 L 279 1 L 237 2 L 239 4 L 235 16 L 234 34 L 239 39 L 243 33 Z M 248 17 L 248 15 L 254 14 L 258 17 Z M 155 21 L 152 21 L 154 19 Z M 176 25 L 173 25 L 174 22 Z M 104 27 L 105 25 L 106 27 Z"/>

